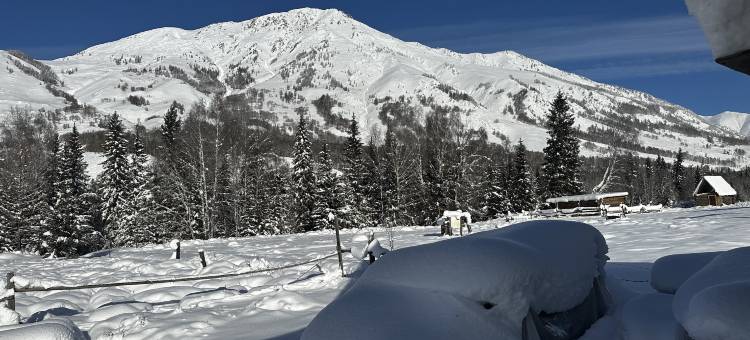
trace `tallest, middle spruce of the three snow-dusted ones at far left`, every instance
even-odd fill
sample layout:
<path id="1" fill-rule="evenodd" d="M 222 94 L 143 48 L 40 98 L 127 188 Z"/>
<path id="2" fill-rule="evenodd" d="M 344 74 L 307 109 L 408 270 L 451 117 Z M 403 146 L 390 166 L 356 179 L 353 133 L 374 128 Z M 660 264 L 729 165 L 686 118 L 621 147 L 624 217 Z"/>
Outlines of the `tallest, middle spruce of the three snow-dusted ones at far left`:
<path id="1" fill-rule="evenodd" d="M 142 146 L 141 146 L 142 147 Z M 133 199 L 132 181 L 134 171 L 128 159 L 128 140 L 125 129 L 117 113 L 110 116 L 104 142 L 104 162 L 99 181 L 103 200 L 102 217 L 110 239 L 120 239 L 128 235 L 118 235 L 122 219 L 126 217 L 128 204 Z M 116 242 L 116 245 L 123 245 Z"/>

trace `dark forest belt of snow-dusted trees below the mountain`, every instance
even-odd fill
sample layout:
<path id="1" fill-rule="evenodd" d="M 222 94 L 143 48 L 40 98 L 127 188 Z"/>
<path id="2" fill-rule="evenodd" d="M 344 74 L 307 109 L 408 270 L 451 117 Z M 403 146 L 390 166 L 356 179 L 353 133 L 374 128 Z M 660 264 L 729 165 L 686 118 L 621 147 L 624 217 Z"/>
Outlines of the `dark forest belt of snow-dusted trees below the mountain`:
<path id="1" fill-rule="evenodd" d="M 385 131 L 371 131 L 368 140 L 354 117 L 339 137 L 318 129 L 305 108 L 296 111 L 293 136 L 255 124 L 220 96 L 189 109 L 173 102 L 153 131 L 127 131 L 114 113 L 97 146 L 104 161 L 95 178 L 87 175 L 76 127 L 58 136 L 43 115 L 15 111 L 0 140 L 0 250 L 66 257 L 334 223 L 428 225 L 444 210 L 483 220 L 584 189 L 626 189 L 637 202 L 687 197 L 682 152 L 671 165 L 632 154 L 580 157 L 562 94 L 551 102 L 542 153 L 522 140 L 489 143 L 486 131 L 469 128 L 448 107 L 433 106 L 423 126 L 386 120 Z M 588 184 L 592 177 L 602 180 Z"/>

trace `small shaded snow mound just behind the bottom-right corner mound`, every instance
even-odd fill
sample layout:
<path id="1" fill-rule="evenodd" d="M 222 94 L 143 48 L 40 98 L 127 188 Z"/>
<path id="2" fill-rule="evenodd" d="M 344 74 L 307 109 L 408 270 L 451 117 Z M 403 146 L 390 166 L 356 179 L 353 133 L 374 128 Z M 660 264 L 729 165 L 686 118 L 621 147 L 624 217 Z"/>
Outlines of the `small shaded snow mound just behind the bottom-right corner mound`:
<path id="1" fill-rule="evenodd" d="M 693 274 L 705 267 L 721 252 L 676 254 L 662 257 L 651 269 L 651 287 L 674 294 Z"/>

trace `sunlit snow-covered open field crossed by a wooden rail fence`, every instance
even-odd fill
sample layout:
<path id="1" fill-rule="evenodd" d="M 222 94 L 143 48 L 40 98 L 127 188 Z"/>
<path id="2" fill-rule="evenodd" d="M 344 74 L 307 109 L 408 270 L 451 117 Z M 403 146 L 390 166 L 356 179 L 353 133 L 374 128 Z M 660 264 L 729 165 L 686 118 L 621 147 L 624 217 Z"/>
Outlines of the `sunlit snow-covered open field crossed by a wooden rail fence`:
<path id="1" fill-rule="evenodd" d="M 664 255 L 727 250 L 750 245 L 746 224 L 750 205 L 724 208 L 675 209 L 605 221 L 576 218 L 597 227 L 609 245 L 609 280 L 616 301 L 653 293 L 652 263 Z M 506 225 L 491 221 L 475 226 L 487 230 Z M 344 246 L 360 231 L 343 231 Z M 404 227 L 396 248 L 439 241 L 437 227 Z M 385 233 L 376 230 L 384 246 Z M 354 244 L 357 246 L 358 244 Z M 361 246 L 361 245 L 360 245 Z M 205 249 L 209 266 L 202 270 L 196 256 Z M 117 249 L 99 257 L 43 260 L 0 254 L 0 271 L 44 284 L 78 285 L 144 278 L 216 274 L 250 268 L 276 267 L 321 257 L 334 250 L 332 232 L 192 241 L 183 244 L 183 259 L 169 260 L 164 245 Z M 345 270 L 359 262 L 345 257 Z M 320 309 L 351 279 L 340 277 L 334 258 L 320 263 L 238 278 L 17 295 L 17 310 L 26 321 L 54 317 L 72 320 L 93 339 L 297 339 Z M 620 285 L 618 285 L 620 284 Z M 621 287 L 614 287 L 615 285 Z M 586 339 L 620 334 L 617 315 L 597 323 Z"/>

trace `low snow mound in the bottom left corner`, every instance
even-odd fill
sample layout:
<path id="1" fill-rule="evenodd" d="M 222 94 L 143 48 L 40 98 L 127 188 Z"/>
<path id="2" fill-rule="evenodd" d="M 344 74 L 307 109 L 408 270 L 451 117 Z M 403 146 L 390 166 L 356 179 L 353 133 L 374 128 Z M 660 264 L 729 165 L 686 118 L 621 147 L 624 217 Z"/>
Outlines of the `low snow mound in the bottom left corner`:
<path id="1" fill-rule="evenodd" d="M 0 327 L 0 340 L 85 340 L 86 336 L 65 319 Z"/>

